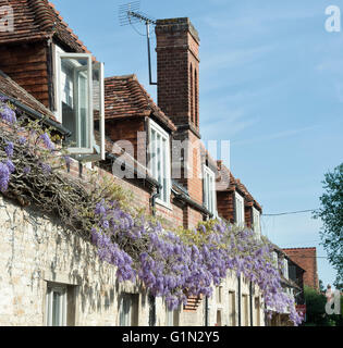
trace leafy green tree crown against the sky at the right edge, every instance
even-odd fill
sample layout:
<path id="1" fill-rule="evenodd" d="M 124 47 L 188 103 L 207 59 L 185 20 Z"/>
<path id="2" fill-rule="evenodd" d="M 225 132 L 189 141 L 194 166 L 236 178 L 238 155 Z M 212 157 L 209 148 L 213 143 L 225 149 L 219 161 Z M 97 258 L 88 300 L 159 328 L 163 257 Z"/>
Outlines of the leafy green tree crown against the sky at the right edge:
<path id="1" fill-rule="evenodd" d="M 322 220 L 320 231 L 329 262 L 336 270 L 335 287 L 343 289 L 343 163 L 324 175 L 324 192 L 320 197 L 320 209 L 315 217 Z"/>

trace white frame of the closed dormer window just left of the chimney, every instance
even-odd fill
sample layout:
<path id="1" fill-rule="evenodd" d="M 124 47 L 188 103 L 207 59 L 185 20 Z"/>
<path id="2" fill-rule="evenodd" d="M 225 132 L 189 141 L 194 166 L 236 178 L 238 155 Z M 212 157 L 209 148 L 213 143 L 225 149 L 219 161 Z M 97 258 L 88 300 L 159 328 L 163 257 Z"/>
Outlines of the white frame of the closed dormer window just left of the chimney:
<path id="1" fill-rule="evenodd" d="M 152 157 L 157 156 L 157 141 L 152 141 L 152 130 L 156 134 L 156 139 L 157 135 L 160 136 L 161 142 L 164 140 L 166 141 L 166 159 L 157 159 L 154 161 Z M 162 147 L 161 147 L 162 149 Z M 162 189 L 160 190 L 160 197 L 163 197 L 163 192 L 166 191 L 166 201 L 163 198 L 157 198 L 156 202 L 164 206 L 166 208 L 171 209 L 171 203 L 170 203 L 170 195 L 171 195 L 171 164 L 170 164 L 170 135 L 162 128 L 160 127 L 156 122 L 152 120 L 149 120 L 149 153 L 150 153 L 150 161 L 149 161 L 149 170 L 151 172 L 152 177 L 159 182 L 159 173 L 158 173 L 158 161 L 161 162 L 161 178 L 162 183 Z M 166 165 L 162 165 L 164 162 Z M 163 187 L 163 177 L 166 176 L 166 187 Z"/>

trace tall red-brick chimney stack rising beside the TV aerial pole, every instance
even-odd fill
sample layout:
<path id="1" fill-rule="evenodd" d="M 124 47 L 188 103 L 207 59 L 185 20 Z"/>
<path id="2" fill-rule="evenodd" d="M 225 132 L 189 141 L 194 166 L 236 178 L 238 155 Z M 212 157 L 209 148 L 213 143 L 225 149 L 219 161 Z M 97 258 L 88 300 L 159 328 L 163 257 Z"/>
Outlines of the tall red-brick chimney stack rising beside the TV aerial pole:
<path id="1" fill-rule="evenodd" d="M 156 25 L 158 105 L 177 126 L 199 137 L 199 37 L 189 18 Z"/>

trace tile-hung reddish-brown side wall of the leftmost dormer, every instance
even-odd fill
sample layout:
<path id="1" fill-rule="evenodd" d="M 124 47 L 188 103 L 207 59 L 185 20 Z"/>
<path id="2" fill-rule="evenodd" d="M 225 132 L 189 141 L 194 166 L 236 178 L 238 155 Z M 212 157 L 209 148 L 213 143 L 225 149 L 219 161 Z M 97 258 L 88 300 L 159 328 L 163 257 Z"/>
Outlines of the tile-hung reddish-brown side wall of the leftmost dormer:
<path id="1" fill-rule="evenodd" d="M 0 70 L 49 108 L 47 48 L 44 42 L 0 46 Z"/>

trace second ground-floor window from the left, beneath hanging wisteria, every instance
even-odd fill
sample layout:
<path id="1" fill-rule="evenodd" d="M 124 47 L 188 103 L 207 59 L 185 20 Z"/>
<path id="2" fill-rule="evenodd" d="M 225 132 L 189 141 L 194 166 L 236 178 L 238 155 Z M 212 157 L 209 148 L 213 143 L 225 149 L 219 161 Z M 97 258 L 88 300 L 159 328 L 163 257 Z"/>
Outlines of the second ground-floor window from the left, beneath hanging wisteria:
<path id="1" fill-rule="evenodd" d="M 139 295 L 123 294 L 120 299 L 120 326 L 138 325 L 138 298 Z"/>

